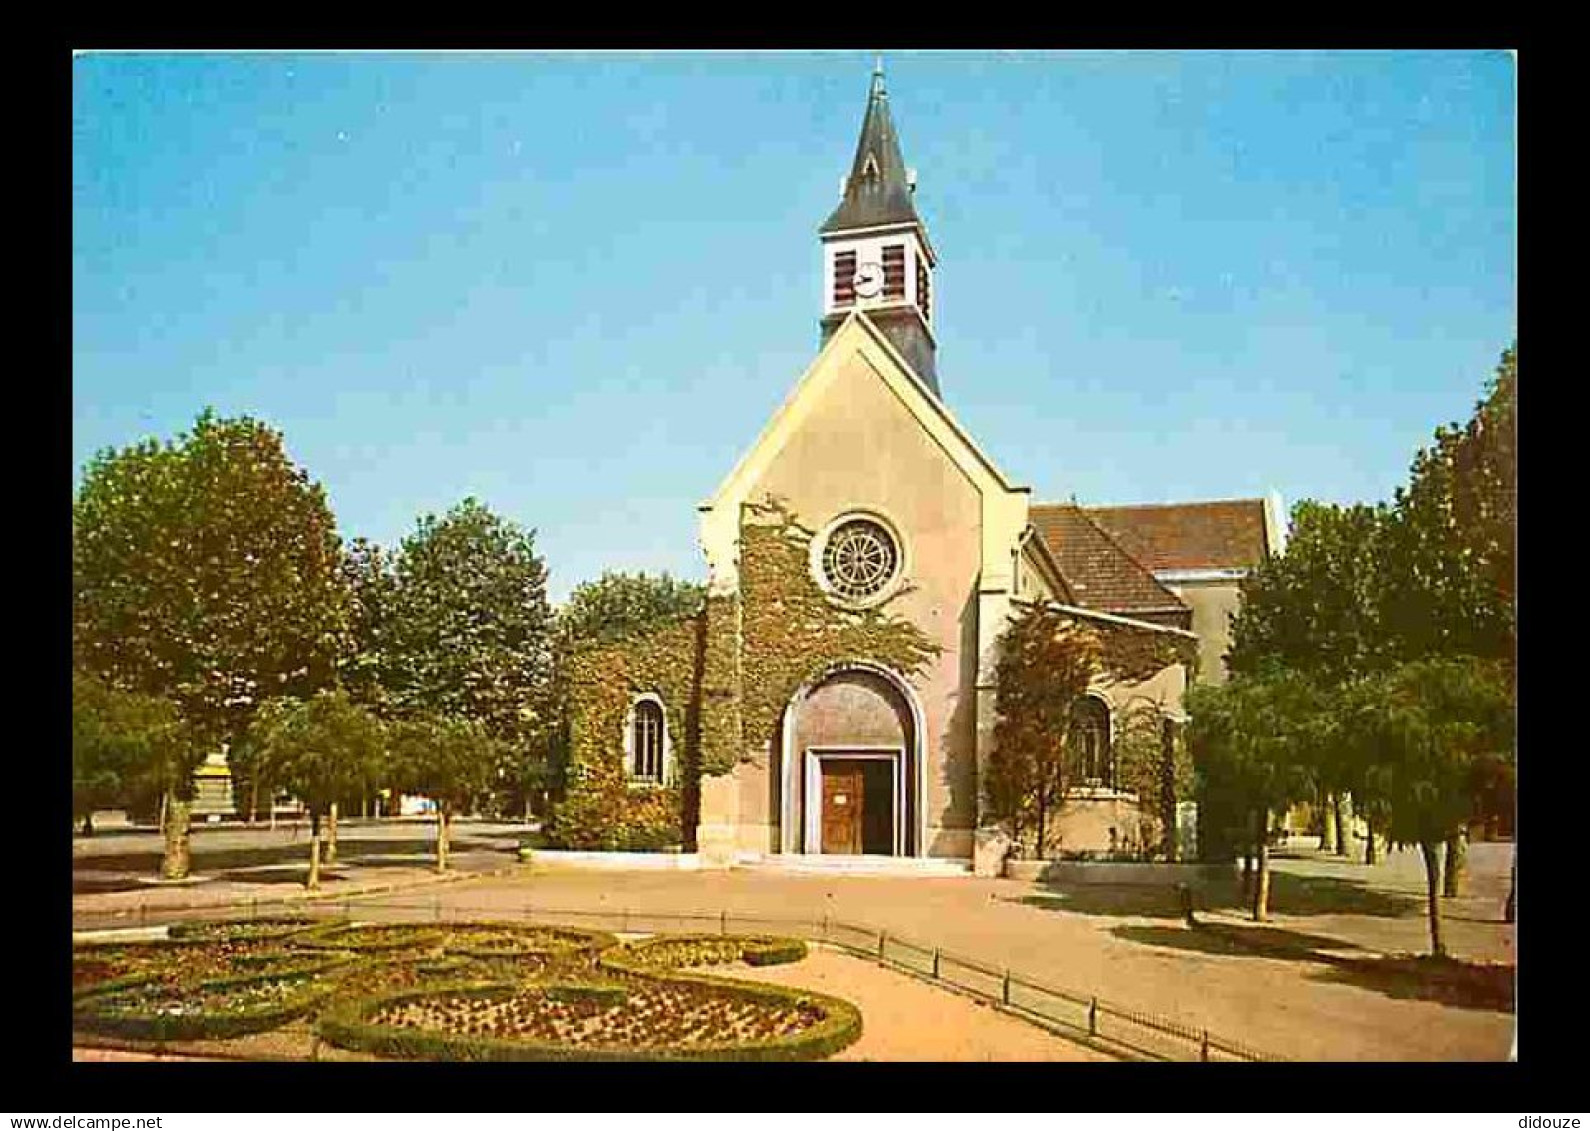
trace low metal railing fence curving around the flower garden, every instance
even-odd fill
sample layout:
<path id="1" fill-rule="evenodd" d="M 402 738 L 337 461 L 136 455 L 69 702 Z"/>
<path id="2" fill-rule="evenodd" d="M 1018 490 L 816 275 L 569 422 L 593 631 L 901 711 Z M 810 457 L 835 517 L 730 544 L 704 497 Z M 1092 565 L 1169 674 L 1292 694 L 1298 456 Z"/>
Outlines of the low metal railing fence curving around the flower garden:
<path id="1" fill-rule="evenodd" d="M 378 899 L 380 904 L 366 904 Z M 116 911 L 73 911 L 73 929 L 140 927 L 180 923 L 184 919 L 254 919 L 280 915 L 307 918 L 358 916 L 374 923 L 444 923 L 463 918 L 520 921 L 537 926 L 588 927 L 617 934 L 785 934 L 824 942 L 860 958 L 903 970 L 944 988 L 997 1005 L 1016 1016 L 1081 1039 L 1116 1055 L 1142 1059 L 1175 1061 L 1278 1061 L 1280 1056 L 1259 1051 L 1207 1029 L 1175 1018 L 1126 1009 L 1094 994 L 1064 989 L 1008 967 L 994 966 L 965 954 L 906 939 L 882 927 L 847 923 L 832 916 L 822 919 L 747 915 L 743 911 L 682 911 L 646 908 L 574 908 L 537 907 L 529 902 L 515 908 L 475 907 L 442 896 L 353 896 L 315 902 L 280 905 L 251 900 L 231 907 L 149 907 Z"/>

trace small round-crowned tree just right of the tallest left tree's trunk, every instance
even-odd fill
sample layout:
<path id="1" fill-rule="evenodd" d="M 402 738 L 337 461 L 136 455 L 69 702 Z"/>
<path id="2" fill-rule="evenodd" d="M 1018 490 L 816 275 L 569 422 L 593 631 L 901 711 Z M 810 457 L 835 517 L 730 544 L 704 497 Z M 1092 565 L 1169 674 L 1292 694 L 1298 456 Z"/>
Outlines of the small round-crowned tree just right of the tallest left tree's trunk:
<path id="1" fill-rule="evenodd" d="M 359 789 L 380 768 L 386 743 L 380 719 L 345 690 L 267 703 L 256 716 L 251 741 L 273 781 L 293 792 L 310 814 L 308 889 L 320 888 L 321 818 L 339 797 Z"/>

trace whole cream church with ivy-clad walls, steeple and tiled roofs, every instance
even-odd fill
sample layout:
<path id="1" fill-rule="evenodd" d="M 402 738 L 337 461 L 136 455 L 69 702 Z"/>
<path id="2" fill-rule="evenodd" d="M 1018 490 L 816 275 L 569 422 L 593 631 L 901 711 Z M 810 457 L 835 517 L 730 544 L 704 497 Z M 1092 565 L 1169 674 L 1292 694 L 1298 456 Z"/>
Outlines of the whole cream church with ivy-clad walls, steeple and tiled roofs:
<path id="1" fill-rule="evenodd" d="M 978 447 L 940 383 L 938 259 L 881 68 L 819 237 L 822 345 L 700 506 L 704 608 L 574 660 L 555 841 L 999 867 L 999 659 L 1041 612 L 1099 657 L 1064 705 L 1048 854 L 1175 854 L 1181 695 L 1223 678 L 1275 501 L 1038 504 Z"/>

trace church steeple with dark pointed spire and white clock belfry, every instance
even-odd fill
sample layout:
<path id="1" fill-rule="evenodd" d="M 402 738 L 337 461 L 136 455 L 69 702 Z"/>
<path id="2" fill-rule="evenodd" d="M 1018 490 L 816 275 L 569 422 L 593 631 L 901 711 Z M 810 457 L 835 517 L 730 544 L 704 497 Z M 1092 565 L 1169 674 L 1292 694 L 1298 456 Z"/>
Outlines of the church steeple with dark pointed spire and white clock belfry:
<path id="1" fill-rule="evenodd" d="M 851 310 L 867 310 L 938 394 L 932 283 L 937 256 L 916 213 L 916 175 L 900 154 L 882 60 L 867 92 L 843 199 L 817 235 L 824 245 L 822 340 Z"/>

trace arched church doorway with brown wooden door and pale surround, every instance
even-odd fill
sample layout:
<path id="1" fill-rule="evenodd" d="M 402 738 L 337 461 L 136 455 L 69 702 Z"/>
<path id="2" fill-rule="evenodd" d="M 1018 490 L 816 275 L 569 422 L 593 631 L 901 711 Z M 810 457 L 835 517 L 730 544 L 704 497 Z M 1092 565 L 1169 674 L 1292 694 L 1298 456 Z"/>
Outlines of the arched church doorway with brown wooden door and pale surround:
<path id="1" fill-rule="evenodd" d="M 784 711 L 781 851 L 921 856 L 921 719 L 909 684 L 882 667 L 801 687 Z"/>

